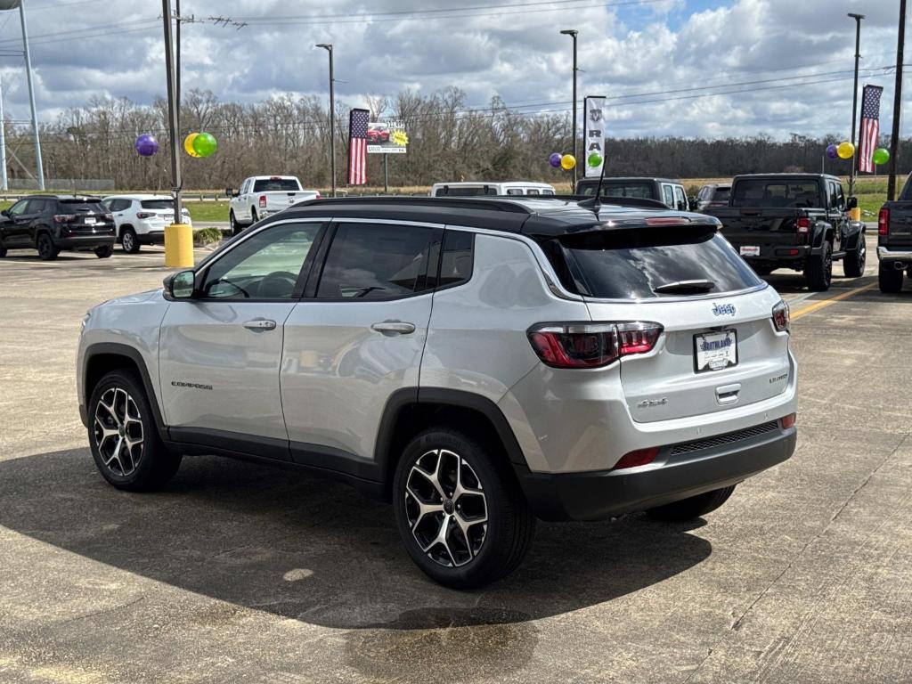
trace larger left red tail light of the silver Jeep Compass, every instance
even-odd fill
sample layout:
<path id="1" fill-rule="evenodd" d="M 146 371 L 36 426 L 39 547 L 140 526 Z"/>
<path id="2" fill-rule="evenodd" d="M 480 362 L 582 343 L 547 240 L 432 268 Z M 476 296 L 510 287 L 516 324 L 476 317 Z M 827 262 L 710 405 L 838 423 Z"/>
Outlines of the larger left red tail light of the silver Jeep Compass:
<path id="1" fill-rule="evenodd" d="M 656 346 L 658 323 L 544 323 L 529 328 L 538 358 L 552 368 L 599 368 Z"/>

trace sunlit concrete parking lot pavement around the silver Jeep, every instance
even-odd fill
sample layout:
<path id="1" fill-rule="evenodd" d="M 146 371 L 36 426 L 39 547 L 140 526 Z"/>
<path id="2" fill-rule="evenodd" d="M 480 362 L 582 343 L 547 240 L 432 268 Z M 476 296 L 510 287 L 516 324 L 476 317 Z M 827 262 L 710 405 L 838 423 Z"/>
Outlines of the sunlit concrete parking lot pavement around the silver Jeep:
<path id="1" fill-rule="evenodd" d="M 76 404 L 80 320 L 163 252 L 0 261 L 0 681 L 900 682 L 912 677 L 912 285 L 793 306 L 798 449 L 697 525 L 540 524 L 499 584 L 411 563 L 389 506 L 187 459 L 109 487 Z M 840 266 L 836 273 L 841 274 Z"/>

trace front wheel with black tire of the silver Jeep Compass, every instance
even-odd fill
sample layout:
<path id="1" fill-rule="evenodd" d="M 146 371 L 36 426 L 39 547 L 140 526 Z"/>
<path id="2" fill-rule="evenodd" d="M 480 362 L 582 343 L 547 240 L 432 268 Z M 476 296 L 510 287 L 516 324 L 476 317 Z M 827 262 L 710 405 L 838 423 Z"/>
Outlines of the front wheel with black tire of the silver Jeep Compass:
<path id="1" fill-rule="evenodd" d="M 150 492 L 171 480 L 181 455 L 159 438 L 140 378 L 127 370 L 110 372 L 88 400 L 88 443 L 98 472 L 118 489 Z M 131 438 L 134 441 L 130 445 Z"/>

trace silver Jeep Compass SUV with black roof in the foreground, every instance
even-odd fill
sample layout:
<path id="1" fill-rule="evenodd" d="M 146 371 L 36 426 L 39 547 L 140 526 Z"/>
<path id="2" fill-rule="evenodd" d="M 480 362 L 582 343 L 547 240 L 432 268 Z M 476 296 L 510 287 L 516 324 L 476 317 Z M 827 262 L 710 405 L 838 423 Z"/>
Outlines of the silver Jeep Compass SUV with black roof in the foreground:
<path id="1" fill-rule="evenodd" d="M 536 517 L 709 513 L 793 453 L 788 307 L 716 219 L 617 202 L 306 202 L 96 306 L 98 470 L 150 490 L 217 453 L 341 478 L 456 587 L 511 572 Z"/>

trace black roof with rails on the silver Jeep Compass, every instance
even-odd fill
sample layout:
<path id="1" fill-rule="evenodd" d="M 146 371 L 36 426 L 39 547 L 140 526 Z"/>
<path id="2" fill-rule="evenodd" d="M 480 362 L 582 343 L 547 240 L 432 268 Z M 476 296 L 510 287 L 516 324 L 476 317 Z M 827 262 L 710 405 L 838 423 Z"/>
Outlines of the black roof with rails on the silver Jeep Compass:
<path id="1" fill-rule="evenodd" d="M 670 210 L 656 203 L 606 198 L 596 213 L 583 198 L 515 197 L 352 197 L 300 202 L 275 217 L 372 218 L 486 228 L 505 233 L 552 237 L 612 228 L 647 228 L 669 223 L 718 226 L 701 213 Z M 592 198 L 589 198 L 590 200 Z M 607 201 L 606 201 L 607 200 Z M 273 217 L 270 217 L 273 219 Z M 677 221 L 675 221 L 677 220 Z"/>

